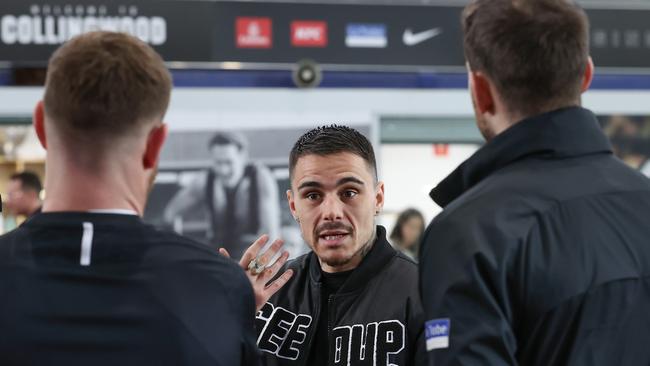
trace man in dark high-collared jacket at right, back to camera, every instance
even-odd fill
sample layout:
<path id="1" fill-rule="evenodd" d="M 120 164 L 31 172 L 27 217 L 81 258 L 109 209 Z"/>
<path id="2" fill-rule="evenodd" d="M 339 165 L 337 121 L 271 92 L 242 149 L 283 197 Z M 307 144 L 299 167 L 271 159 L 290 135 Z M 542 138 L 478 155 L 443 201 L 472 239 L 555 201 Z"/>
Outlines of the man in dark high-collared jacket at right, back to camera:
<path id="1" fill-rule="evenodd" d="M 487 144 L 432 192 L 420 286 L 430 365 L 650 363 L 650 182 L 580 107 L 588 22 L 565 0 L 463 13 Z"/>

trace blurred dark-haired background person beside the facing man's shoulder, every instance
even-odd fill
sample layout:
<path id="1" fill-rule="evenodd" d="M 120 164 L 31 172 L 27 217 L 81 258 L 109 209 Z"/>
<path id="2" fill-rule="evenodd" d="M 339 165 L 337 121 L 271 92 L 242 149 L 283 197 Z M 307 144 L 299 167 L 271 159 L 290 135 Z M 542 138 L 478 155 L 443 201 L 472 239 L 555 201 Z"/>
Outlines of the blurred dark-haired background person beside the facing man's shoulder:
<path id="1" fill-rule="evenodd" d="M 397 216 L 390 233 L 390 241 L 396 249 L 417 262 L 420 238 L 424 233 L 424 217 L 420 211 L 408 208 Z"/>

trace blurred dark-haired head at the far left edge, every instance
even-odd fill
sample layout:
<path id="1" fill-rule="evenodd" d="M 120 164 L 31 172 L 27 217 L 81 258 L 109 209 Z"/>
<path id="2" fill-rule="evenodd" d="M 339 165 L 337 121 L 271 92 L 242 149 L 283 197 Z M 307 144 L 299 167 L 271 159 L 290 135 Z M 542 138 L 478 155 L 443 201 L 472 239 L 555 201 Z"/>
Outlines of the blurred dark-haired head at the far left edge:
<path id="1" fill-rule="evenodd" d="M 43 184 L 36 173 L 24 171 L 13 174 L 7 184 L 5 204 L 7 212 L 14 217 L 26 217 L 41 211 Z"/>

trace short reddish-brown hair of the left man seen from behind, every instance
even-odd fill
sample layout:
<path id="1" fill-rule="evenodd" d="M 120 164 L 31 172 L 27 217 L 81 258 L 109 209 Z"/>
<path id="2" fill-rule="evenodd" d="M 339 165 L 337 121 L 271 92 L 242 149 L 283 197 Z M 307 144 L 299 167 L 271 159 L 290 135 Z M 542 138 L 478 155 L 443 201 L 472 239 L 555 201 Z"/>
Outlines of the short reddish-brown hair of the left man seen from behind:
<path id="1" fill-rule="evenodd" d="M 92 144 L 162 119 L 171 87 L 171 75 L 153 48 L 125 33 L 90 32 L 50 58 L 43 103 L 64 136 Z"/>

